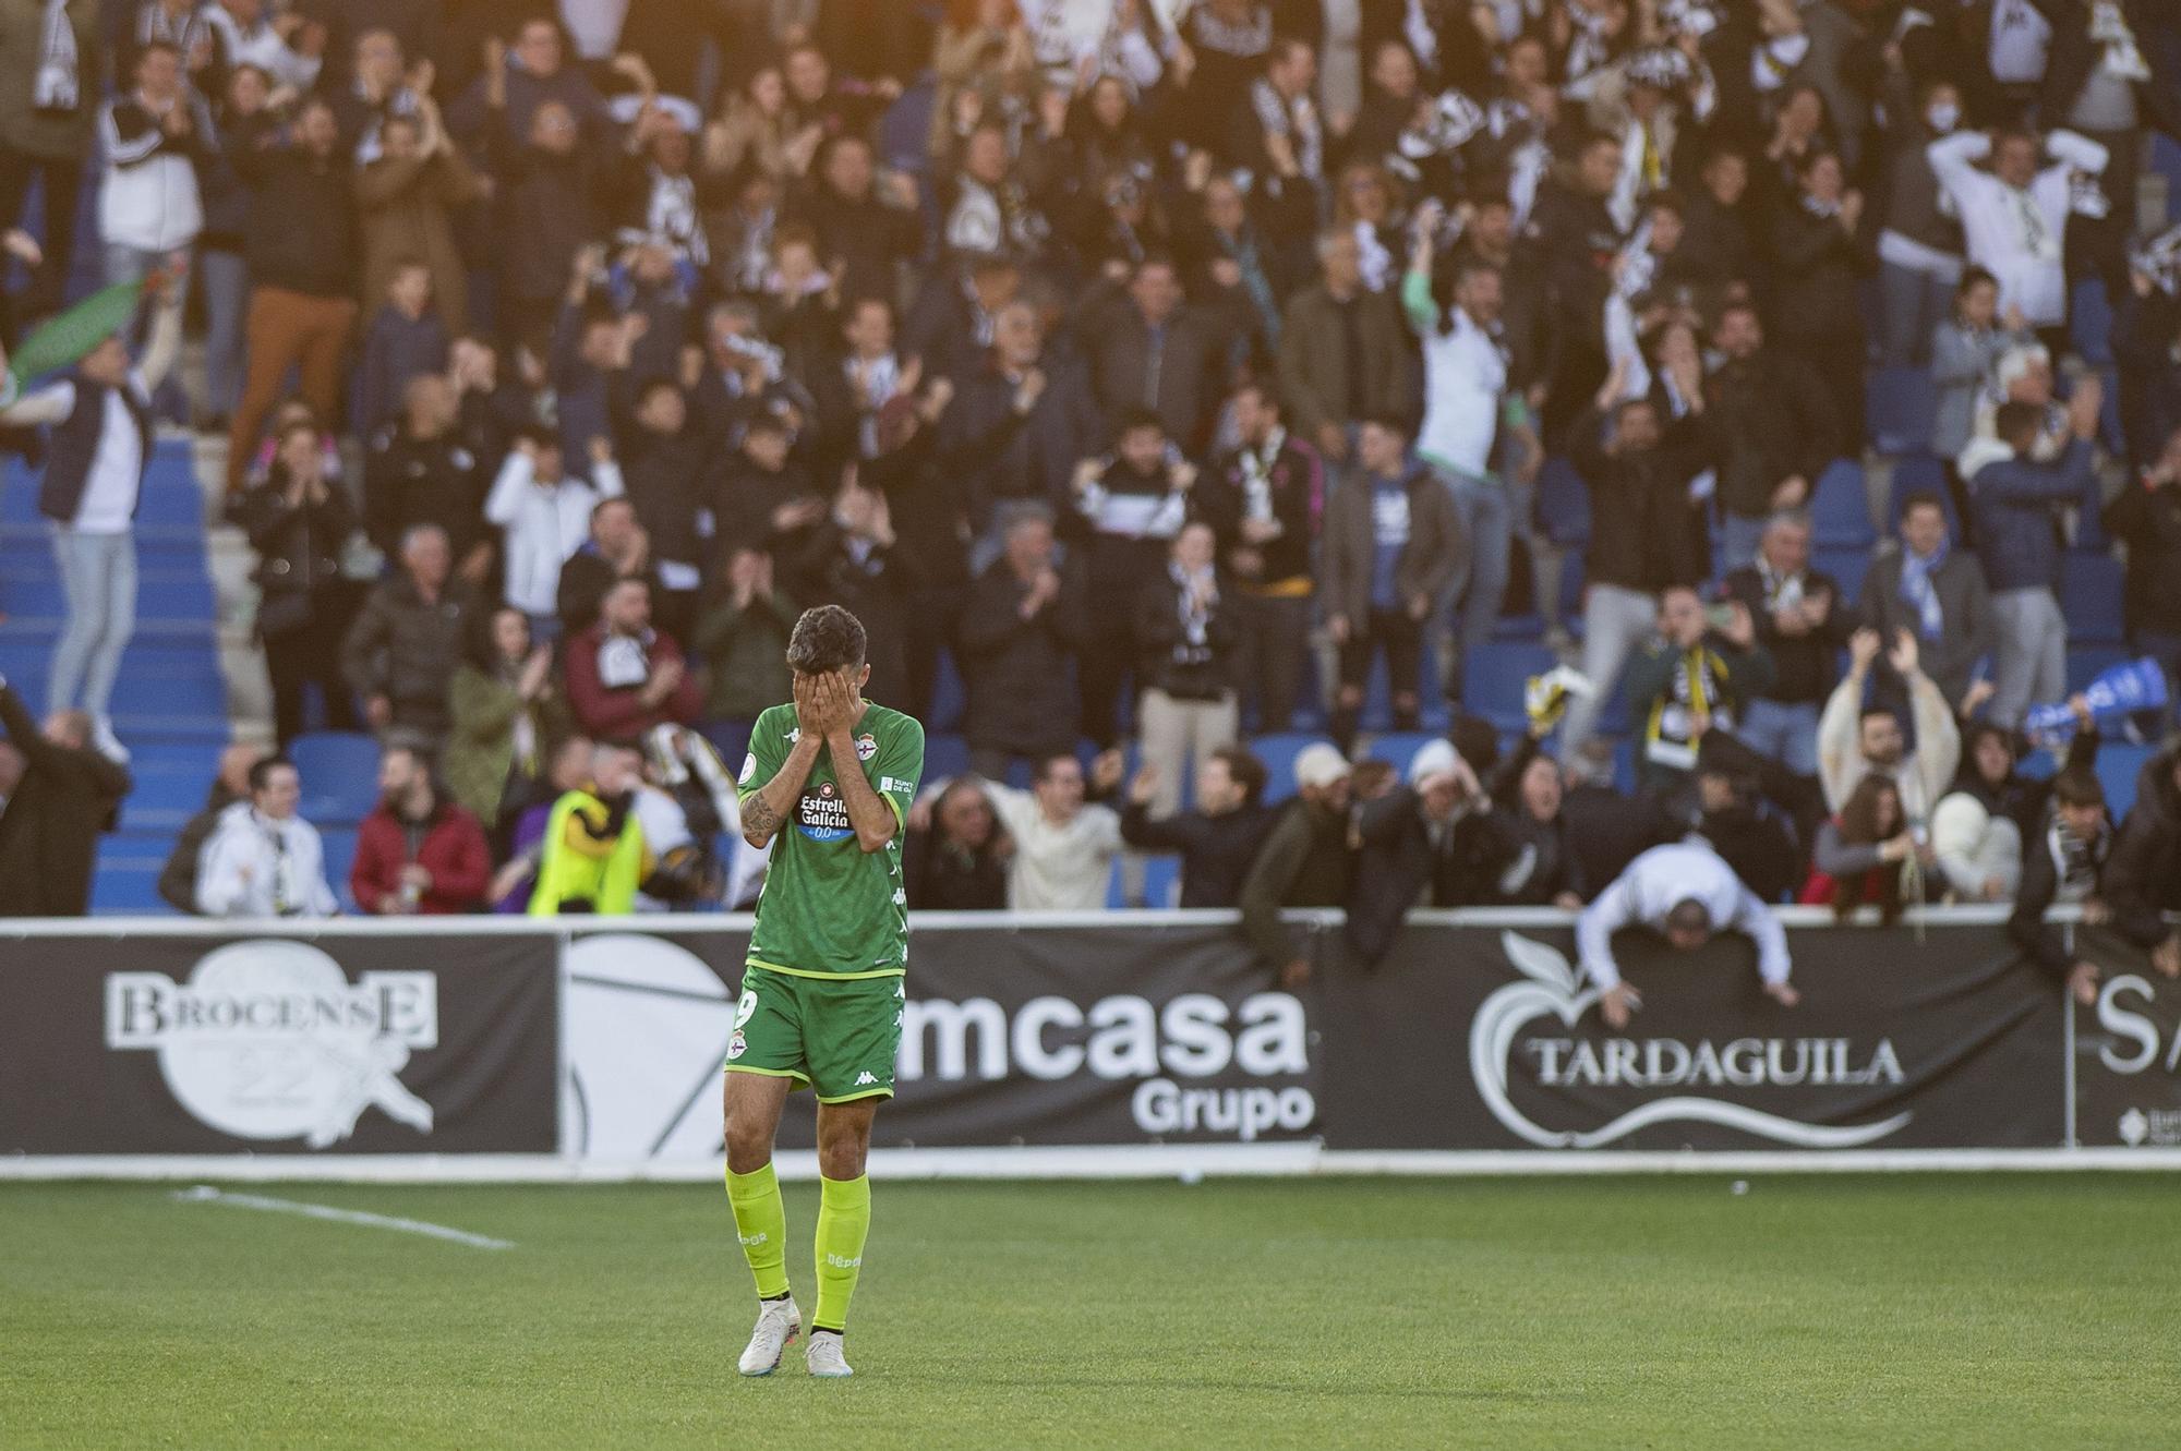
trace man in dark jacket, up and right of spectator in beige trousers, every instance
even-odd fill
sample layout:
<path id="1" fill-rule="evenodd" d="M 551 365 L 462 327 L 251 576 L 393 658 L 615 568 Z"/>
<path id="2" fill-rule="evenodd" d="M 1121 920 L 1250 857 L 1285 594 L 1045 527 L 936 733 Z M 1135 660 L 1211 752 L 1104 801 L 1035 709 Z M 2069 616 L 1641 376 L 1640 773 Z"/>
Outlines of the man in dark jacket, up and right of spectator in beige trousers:
<path id="1" fill-rule="evenodd" d="M 1230 416 L 1237 447 L 1197 481 L 1191 505 L 1217 536 L 1241 704 L 1256 704 L 1258 730 L 1278 732 L 1293 723 L 1311 647 L 1324 466 L 1282 427 L 1280 401 L 1265 383 L 1237 388 Z"/>

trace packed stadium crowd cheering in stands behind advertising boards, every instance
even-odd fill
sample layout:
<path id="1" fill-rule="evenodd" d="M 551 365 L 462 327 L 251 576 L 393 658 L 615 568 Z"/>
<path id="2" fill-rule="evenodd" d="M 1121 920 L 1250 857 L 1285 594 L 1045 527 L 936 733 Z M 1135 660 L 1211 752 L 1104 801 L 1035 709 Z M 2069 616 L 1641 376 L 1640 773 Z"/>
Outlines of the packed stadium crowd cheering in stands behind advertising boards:
<path id="1" fill-rule="evenodd" d="M 912 906 L 1101 909 L 1178 852 L 1293 974 L 1280 906 L 1376 961 L 1418 902 L 1697 843 L 1762 902 L 2017 902 L 2057 974 L 2041 911 L 2087 902 L 2181 970 L 2181 749 L 2122 824 L 2092 769 L 2172 717 L 2070 699 L 2061 610 L 2102 527 L 2170 693 L 2168 7 L 0 0 L 0 224 L 33 181 L 46 218 L 11 340 L 85 255 L 146 279 L 0 412 L 70 606 L 46 728 L 0 691 L 7 911 L 85 906 L 185 425 L 275 749 L 384 743 L 364 913 L 746 902 L 728 773 L 840 603 L 870 697 L 964 743 Z M 1873 368 L 1928 373 L 1939 466 L 1845 586 L 1812 508 L 1869 508 Z M 1531 617 L 1570 669 L 1492 719 Z M 336 909 L 275 749 L 222 760 L 183 911 Z"/>

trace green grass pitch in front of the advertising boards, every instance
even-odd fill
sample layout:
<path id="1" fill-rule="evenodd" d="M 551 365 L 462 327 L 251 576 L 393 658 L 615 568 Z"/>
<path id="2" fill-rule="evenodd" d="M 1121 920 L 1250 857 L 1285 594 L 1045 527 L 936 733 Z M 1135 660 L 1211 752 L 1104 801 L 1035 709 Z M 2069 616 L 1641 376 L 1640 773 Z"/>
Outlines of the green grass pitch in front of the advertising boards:
<path id="1" fill-rule="evenodd" d="M 881 1181 L 853 1381 L 720 1190 L 238 1187 L 515 1248 L 0 1185 L 0 1447 L 2181 1444 L 2166 1174 Z"/>

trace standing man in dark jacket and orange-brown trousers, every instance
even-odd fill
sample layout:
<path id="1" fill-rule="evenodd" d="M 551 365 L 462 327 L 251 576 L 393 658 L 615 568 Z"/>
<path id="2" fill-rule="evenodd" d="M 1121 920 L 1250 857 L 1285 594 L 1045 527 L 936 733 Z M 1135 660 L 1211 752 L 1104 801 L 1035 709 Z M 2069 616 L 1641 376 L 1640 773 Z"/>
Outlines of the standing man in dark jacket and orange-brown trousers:
<path id="1" fill-rule="evenodd" d="M 356 331 L 356 198 L 334 109 L 310 98 L 286 139 L 233 157 L 251 187 L 249 375 L 227 436 L 227 488 L 242 488 L 288 368 L 318 418 L 340 416 L 340 366 Z"/>

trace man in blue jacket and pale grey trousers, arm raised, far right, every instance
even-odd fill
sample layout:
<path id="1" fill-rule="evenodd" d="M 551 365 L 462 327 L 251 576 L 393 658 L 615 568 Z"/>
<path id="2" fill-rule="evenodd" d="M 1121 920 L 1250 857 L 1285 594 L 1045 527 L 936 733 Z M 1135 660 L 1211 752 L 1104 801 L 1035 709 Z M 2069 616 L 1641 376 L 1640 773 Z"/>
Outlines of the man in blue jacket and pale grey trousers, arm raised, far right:
<path id="1" fill-rule="evenodd" d="M 1969 444 L 1989 462 L 1963 468 L 1976 510 L 1976 556 L 1991 584 L 1998 623 L 1991 719 L 2017 728 L 2031 702 L 2068 693 L 2068 621 L 2059 608 L 2061 512 L 2096 508 L 2092 436 L 2098 431 L 2098 386 L 2085 379 L 2068 401 L 2068 447 L 2050 464 L 2031 458 L 2041 412 L 2035 403 L 2002 403 L 1998 440 Z"/>

